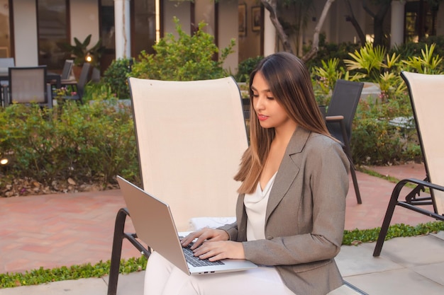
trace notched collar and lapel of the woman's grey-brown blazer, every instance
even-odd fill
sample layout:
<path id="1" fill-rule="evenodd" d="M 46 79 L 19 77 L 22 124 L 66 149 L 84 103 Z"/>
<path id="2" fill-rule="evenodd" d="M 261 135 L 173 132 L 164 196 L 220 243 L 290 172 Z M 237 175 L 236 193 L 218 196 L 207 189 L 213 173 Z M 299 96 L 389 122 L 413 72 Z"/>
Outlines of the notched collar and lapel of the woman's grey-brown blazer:
<path id="1" fill-rule="evenodd" d="M 308 130 L 297 127 L 294 131 L 292 139 L 290 139 L 285 151 L 284 158 L 277 171 L 274 184 L 270 192 L 270 197 L 267 204 L 267 213 L 265 215 L 265 224 L 268 218 L 277 207 L 281 199 L 289 190 L 290 185 L 294 182 L 296 175 L 299 173 L 300 163 L 294 157 L 294 154 L 299 154 L 304 149 L 306 141 L 309 139 L 310 133 Z"/>

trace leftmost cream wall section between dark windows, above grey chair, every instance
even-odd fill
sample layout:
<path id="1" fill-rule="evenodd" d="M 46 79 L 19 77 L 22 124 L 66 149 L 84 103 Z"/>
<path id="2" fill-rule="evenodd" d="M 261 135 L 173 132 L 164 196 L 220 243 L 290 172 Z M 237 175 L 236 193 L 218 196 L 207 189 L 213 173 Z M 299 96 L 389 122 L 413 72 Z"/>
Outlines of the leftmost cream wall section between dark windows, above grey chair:
<path id="1" fill-rule="evenodd" d="M 37 66 L 37 11 L 35 0 L 14 0 L 14 57 L 16 66 Z"/>

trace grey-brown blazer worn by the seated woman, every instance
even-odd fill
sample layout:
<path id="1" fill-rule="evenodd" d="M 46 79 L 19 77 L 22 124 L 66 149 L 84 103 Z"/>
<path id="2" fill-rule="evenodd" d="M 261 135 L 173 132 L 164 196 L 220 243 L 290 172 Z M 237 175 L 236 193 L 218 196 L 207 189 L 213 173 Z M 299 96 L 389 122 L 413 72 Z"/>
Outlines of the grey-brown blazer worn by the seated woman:
<path id="1" fill-rule="evenodd" d="M 343 239 L 349 170 L 340 144 L 298 127 L 270 192 L 265 240 L 247 241 L 243 194 L 237 221 L 220 229 L 243 242 L 246 259 L 274 265 L 295 294 L 328 294 L 343 284 L 334 257 Z"/>

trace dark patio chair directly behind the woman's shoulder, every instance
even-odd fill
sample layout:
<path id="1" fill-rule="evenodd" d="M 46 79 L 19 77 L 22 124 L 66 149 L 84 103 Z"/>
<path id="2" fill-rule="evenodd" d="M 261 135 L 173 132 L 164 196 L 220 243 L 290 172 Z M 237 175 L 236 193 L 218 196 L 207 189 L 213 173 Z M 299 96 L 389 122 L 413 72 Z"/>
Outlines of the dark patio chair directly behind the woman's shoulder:
<path id="1" fill-rule="evenodd" d="M 350 173 L 355 187 L 355 195 L 358 204 L 362 204 L 362 199 L 357 185 L 355 165 L 353 164 L 350 149 L 350 140 L 352 137 L 352 123 L 355 117 L 357 103 L 359 103 L 364 83 L 345 81 L 339 79 L 335 83 L 333 95 L 328 105 L 326 114 L 326 124 L 328 131 L 335 139 L 343 143 L 345 154 L 350 160 Z"/>

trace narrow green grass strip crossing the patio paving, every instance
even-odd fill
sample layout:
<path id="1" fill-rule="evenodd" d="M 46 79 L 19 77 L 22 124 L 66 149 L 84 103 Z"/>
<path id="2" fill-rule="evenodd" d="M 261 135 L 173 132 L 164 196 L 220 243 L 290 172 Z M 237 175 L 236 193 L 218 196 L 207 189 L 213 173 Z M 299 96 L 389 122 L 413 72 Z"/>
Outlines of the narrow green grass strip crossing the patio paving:
<path id="1" fill-rule="evenodd" d="M 344 231 L 343 245 L 358 245 L 360 243 L 369 243 L 377 240 L 381 228 L 376 229 L 355 229 L 353 231 Z M 437 233 L 444 231 L 444 222 L 433 221 L 417 226 L 406 224 L 394 224 L 389 226 L 386 241 L 390 238 L 422 236 L 428 233 Z M 145 270 L 147 259 L 145 256 L 140 258 L 130 258 L 121 260 L 120 272 L 128 274 L 131 272 L 140 272 Z M 64 281 L 66 279 L 87 279 L 89 277 L 104 277 L 109 274 L 111 261 L 99 262 L 96 265 L 90 263 L 85 265 L 73 265 L 72 267 L 57 267 L 52 270 L 43 269 L 26 271 L 25 273 L 0 274 L 0 289 L 28 286 L 35 284 L 45 284 L 50 282 Z"/>

